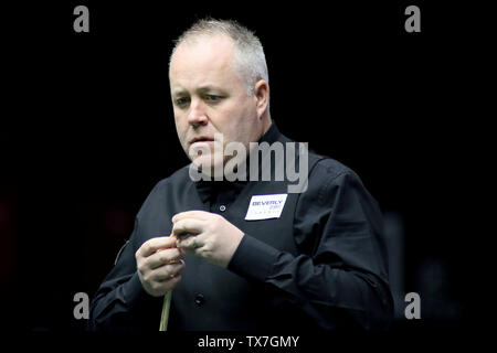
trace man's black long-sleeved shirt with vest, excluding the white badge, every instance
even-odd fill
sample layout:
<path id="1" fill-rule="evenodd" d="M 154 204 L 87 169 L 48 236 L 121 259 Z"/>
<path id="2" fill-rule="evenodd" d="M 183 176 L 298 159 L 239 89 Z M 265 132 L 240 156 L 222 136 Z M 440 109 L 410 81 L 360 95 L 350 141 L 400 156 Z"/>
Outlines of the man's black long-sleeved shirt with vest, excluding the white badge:
<path id="1" fill-rule="evenodd" d="M 263 141 L 290 140 L 273 124 Z M 307 190 L 288 193 L 278 218 L 260 221 L 245 220 L 251 197 L 285 194 L 287 181 L 194 182 L 188 167 L 160 181 L 92 301 L 89 328 L 158 330 L 162 298 L 142 289 L 135 253 L 190 210 L 220 214 L 245 235 L 228 269 L 187 256 L 169 330 L 387 328 L 393 302 L 379 206 L 336 160 L 309 153 L 308 167 Z"/>

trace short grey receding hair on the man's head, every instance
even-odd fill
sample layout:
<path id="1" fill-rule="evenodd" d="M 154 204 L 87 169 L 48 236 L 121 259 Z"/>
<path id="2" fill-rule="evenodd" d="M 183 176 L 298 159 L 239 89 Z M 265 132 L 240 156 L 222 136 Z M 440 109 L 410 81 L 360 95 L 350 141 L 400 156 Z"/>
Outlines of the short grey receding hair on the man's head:
<path id="1" fill-rule="evenodd" d="M 181 43 L 205 34 L 225 34 L 233 40 L 235 68 L 246 82 L 248 95 L 254 93 L 254 86 L 257 81 L 264 79 L 269 83 L 266 57 L 261 41 L 254 32 L 233 20 L 208 18 L 193 23 L 175 41 L 175 47 L 169 57 L 169 66 L 171 65 L 172 55 Z"/>

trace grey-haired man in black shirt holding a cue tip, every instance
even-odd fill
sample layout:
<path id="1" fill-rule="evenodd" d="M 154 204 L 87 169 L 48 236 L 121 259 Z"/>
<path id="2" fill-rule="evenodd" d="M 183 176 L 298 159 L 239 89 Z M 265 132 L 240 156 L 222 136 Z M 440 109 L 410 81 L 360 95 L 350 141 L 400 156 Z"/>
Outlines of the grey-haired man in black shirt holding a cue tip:
<path id="1" fill-rule="evenodd" d="M 169 79 L 192 164 L 151 191 L 92 302 L 89 327 L 158 330 L 172 290 L 169 330 L 387 328 L 381 214 L 360 179 L 287 148 L 306 179 L 288 192 L 288 179 L 276 176 L 281 159 L 264 164 L 271 153 L 254 154 L 253 142 L 292 145 L 271 119 L 258 39 L 236 22 L 201 20 L 178 40 Z M 239 152 L 226 153 L 233 145 Z M 228 170 L 235 157 L 241 163 Z M 273 179 L 262 181 L 264 170 L 248 178 L 248 164 Z"/>

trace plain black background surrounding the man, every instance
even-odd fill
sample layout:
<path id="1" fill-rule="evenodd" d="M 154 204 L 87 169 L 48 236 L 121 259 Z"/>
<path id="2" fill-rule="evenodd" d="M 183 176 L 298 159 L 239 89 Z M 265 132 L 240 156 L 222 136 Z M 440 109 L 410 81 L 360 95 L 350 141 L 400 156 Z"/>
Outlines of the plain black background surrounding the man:
<path id="1" fill-rule="evenodd" d="M 89 9 L 89 33 L 73 9 Z M 406 33 L 417 4 L 422 32 Z M 447 269 L 454 318 L 474 323 L 472 245 L 485 218 L 491 41 L 476 4 L 421 1 L 155 3 L 61 1 L 2 8 L 0 130 L 3 323 L 78 331 L 73 296 L 97 289 L 152 186 L 184 165 L 168 60 L 204 15 L 255 30 L 272 117 L 286 136 L 352 168 L 405 227 L 405 288 L 416 266 Z M 488 87 L 488 86 L 487 86 Z M 489 131 L 487 131 L 489 132 Z"/>

